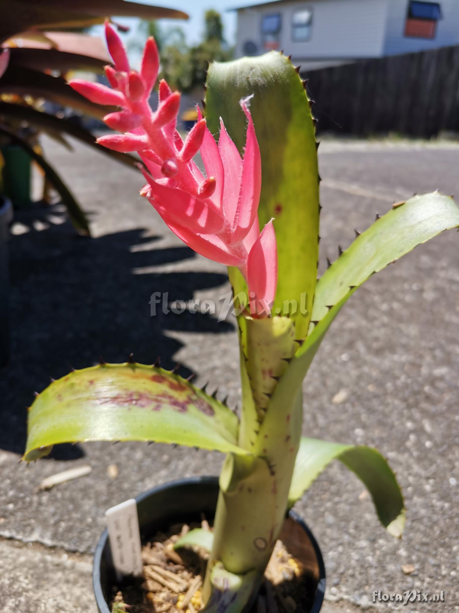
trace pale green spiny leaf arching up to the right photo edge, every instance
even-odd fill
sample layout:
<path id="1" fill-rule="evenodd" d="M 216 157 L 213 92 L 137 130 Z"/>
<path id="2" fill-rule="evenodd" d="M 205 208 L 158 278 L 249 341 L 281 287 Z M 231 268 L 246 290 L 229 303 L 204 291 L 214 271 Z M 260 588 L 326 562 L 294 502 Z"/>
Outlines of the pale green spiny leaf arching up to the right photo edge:
<path id="1" fill-rule="evenodd" d="M 279 382 L 278 393 L 294 394 L 330 324 L 357 287 L 417 245 L 457 226 L 459 209 L 452 197 L 433 192 L 397 205 L 360 234 L 318 281 L 308 337 Z"/>

